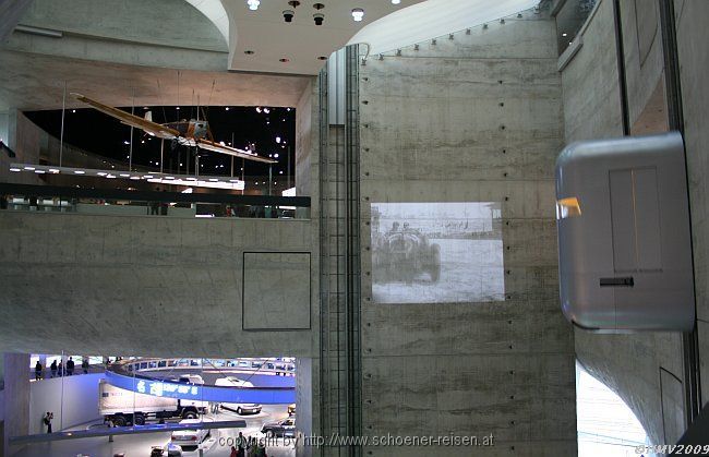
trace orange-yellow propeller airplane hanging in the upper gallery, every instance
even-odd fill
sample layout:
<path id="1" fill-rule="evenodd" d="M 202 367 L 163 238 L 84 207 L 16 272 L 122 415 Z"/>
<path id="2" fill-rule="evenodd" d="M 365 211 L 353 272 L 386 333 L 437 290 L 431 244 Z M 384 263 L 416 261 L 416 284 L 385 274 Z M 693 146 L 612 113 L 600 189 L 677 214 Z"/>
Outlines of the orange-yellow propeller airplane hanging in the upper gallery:
<path id="1" fill-rule="evenodd" d="M 160 124 L 153 122 L 151 111 L 145 115 L 145 118 L 141 118 L 140 116 L 134 116 L 118 108 L 104 105 L 100 101 L 96 101 L 81 94 L 72 93 L 72 95 L 77 100 L 83 101 L 86 105 L 89 105 L 95 109 L 120 120 L 127 125 L 141 129 L 151 136 L 156 136 L 163 140 L 171 140 L 173 142 L 173 145 L 179 144 L 181 146 L 199 147 L 201 149 L 212 151 L 219 154 L 227 154 L 233 157 L 261 161 L 264 164 L 276 164 L 278 161 L 266 157 L 260 157 L 256 155 L 256 153 L 251 151 L 243 151 L 237 147 L 227 146 L 224 143 L 215 142 L 214 136 L 212 135 L 212 131 L 209 130 L 209 122 L 204 119 L 199 119 L 199 109 L 197 119 Z"/>

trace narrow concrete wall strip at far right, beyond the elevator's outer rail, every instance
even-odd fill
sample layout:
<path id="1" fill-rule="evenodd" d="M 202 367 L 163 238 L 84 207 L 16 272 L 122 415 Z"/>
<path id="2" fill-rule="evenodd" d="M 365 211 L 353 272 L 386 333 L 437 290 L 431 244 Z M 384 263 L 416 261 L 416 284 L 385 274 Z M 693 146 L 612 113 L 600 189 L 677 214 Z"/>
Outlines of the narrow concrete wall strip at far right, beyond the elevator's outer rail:
<path id="1" fill-rule="evenodd" d="M 709 145 L 709 3 L 701 0 L 675 2 L 680 76 L 685 117 L 685 147 L 689 172 L 689 201 L 694 238 L 697 326 L 701 364 L 701 394 L 709 399 L 709 197 L 707 195 L 707 145 Z"/>

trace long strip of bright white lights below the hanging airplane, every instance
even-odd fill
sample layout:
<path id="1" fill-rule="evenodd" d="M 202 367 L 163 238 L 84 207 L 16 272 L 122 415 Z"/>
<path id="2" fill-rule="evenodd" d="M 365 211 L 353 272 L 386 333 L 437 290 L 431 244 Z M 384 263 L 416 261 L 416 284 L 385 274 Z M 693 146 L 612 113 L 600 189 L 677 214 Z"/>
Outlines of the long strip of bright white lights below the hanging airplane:
<path id="1" fill-rule="evenodd" d="M 10 171 L 31 172 L 37 175 L 67 175 L 106 179 L 128 179 L 132 181 L 147 181 L 157 184 L 189 185 L 191 188 L 229 189 L 242 191 L 245 182 L 231 177 L 223 176 L 193 176 L 176 173 L 158 173 L 149 171 L 122 171 L 99 170 L 94 168 L 55 167 L 36 164 L 10 164 Z"/>

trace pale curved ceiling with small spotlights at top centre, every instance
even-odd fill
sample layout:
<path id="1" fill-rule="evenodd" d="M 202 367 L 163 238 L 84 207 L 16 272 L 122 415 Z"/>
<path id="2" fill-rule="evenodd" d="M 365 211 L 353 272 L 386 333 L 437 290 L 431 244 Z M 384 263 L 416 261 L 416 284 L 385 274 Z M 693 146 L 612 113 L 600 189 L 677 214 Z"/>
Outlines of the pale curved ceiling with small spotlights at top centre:
<path id="1" fill-rule="evenodd" d="M 540 0 L 187 0 L 228 37 L 229 69 L 250 72 L 317 74 L 323 58 L 348 44 L 366 43 L 384 52 L 527 10 Z M 315 9 L 315 4 L 323 5 Z M 352 10 L 364 10 L 361 22 Z M 292 22 L 284 11 L 292 10 Z M 313 14 L 324 22 L 315 25 Z"/>

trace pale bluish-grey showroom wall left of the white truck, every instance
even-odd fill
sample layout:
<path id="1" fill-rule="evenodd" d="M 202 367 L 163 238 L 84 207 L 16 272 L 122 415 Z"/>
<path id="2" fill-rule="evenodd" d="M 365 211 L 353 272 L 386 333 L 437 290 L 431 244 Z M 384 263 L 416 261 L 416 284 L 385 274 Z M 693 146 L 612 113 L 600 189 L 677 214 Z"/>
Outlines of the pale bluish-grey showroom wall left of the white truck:
<path id="1" fill-rule="evenodd" d="M 55 432 L 100 420 L 98 382 L 103 377 L 103 373 L 95 373 L 31 383 L 29 434 L 47 432 L 47 426 L 41 421 L 47 411 L 55 413 L 51 423 Z"/>

